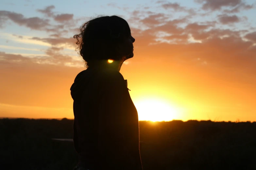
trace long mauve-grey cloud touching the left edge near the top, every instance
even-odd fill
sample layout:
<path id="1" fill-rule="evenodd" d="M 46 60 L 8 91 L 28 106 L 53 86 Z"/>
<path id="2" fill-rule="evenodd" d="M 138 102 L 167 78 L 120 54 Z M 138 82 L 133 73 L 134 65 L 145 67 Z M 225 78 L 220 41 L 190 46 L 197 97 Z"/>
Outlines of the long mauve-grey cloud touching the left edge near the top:
<path id="1" fill-rule="evenodd" d="M 26 26 L 34 30 L 44 30 L 49 26 L 48 19 L 41 19 L 39 17 L 25 18 L 22 14 L 9 11 L 0 11 L 1 21 L 7 21 L 7 19 L 17 23 L 18 25 Z"/>

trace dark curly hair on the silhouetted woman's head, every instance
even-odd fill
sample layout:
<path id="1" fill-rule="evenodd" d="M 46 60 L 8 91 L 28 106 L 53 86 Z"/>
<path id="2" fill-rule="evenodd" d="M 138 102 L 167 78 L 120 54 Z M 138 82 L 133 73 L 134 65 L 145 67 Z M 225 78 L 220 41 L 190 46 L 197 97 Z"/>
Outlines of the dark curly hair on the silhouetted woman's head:
<path id="1" fill-rule="evenodd" d="M 100 16 L 85 22 L 80 33 L 74 35 L 78 45 L 76 51 L 84 59 L 85 66 L 100 60 L 119 60 L 123 56 L 118 53 L 117 45 L 130 35 L 130 27 L 123 18 Z"/>

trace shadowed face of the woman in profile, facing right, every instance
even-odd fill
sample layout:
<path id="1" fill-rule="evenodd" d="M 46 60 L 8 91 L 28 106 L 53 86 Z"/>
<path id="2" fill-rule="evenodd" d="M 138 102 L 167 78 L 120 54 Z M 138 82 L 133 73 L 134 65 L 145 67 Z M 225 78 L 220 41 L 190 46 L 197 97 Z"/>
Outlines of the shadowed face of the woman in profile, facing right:
<path id="1" fill-rule="evenodd" d="M 121 55 L 126 56 L 127 59 L 133 57 L 133 43 L 134 43 L 134 41 L 135 41 L 135 39 L 130 35 L 128 38 L 126 37 L 124 39 L 123 43 L 121 43 L 119 45 Z"/>

